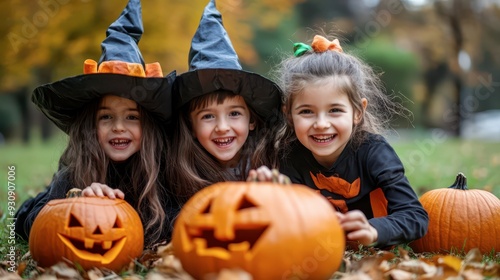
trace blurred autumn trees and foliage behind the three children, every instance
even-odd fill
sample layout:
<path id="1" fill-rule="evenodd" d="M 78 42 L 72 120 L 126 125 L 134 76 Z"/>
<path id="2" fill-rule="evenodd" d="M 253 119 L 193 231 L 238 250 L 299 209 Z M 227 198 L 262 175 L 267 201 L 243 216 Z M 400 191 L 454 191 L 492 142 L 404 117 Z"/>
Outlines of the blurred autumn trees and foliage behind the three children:
<path id="1" fill-rule="evenodd" d="M 207 2 L 143 0 L 145 32 L 139 47 L 145 62 L 158 61 L 165 75 L 187 71 L 190 41 Z M 16 151 L 33 141 L 34 151 L 58 148 L 50 157 L 54 163 L 50 169 L 56 167 L 65 138 L 31 103 L 31 91 L 81 74 L 87 58 L 98 60 L 106 29 L 126 3 L 0 1 L 2 168 L 19 162 L 6 152 L 8 145 Z M 437 129 L 450 139 L 480 136 L 488 142 L 500 141 L 500 0 L 217 0 L 217 6 L 245 70 L 272 78 L 276 64 L 292 54 L 293 42 L 310 43 L 315 34 L 337 37 L 346 52 L 380 72 L 388 93 L 398 96 L 413 112 L 411 123 L 394 123 L 400 139 L 404 131 L 429 137 L 429 131 Z M 32 140 L 33 135 L 41 143 Z M 58 144 L 53 144 L 54 137 Z M 412 168 L 418 159 L 415 155 L 443 158 L 435 154 L 442 138 L 426 139 L 435 145 L 419 147 L 410 142 L 401 148 L 407 151 L 403 161 Z M 471 149 L 472 156 L 479 145 L 454 147 Z M 429 147 L 434 157 L 427 154 Z M 493 148 L 495 144 L 483 147 L 487 148 L 478 150 L 491 156 L 486 165 L 498 169 L 500 151 Z M 418 163 L 417 167 L 424 161 Z M 464 161 L 457 168 L 468 164 L 478 163 Z M 485 183 L 488 188 L 500 187 L 493 172 L 474 172 L 491 177 Z M 456 175 L 450 173 L 446 182 Z M 445 183 L 436 185 L 444 187 Z"/>

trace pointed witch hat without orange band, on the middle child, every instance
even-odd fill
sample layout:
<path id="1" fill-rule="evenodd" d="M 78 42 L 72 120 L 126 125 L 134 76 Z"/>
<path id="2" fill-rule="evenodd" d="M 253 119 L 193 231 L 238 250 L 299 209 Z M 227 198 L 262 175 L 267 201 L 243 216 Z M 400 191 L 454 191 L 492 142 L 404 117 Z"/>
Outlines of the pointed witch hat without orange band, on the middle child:
<path id="1" fill-rule="evenodd" d="M 174 104 L 181 107 L 193 98 L 218 90 L 241 95 L 264 119 L 281 109 L 280 88 L 261 75 L 242 70 L 215 0 L 211 0 L 191 42 L 189 71 L 175 81 Z"/>

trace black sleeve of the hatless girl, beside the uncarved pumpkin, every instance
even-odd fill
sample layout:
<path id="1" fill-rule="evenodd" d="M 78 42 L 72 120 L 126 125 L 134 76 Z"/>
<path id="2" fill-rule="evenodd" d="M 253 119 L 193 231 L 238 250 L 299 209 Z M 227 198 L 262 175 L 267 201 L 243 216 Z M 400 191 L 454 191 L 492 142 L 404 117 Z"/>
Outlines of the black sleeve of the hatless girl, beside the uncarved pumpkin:
<path id="1" fill-rule="evenodd" d="M 370 219 L 377 229 L 377 247 L 407 243 L 427 232 L 429 217 L 404 173 L 394 149 L 385 141 L 373 145 L 366 169 L 387 199 L 387 216 Z"/>

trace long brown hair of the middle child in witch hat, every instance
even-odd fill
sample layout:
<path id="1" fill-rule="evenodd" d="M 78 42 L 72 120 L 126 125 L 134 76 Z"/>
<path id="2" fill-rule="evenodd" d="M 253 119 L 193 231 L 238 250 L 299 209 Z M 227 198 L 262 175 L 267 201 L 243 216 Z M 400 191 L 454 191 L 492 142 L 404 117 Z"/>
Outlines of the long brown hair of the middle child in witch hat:
<path id="1" fill-rule="evenodd" d="M 221 104 L 226 98 L 234 96 L 236 94 L 228 91 L 216 91 L 200 96 L 184 105 L 174 120 L 173 148 L 167 176 L 181 203 L 208 185 L 229 180 L 244 181 L 251 168 L 262 165 L 276 167 L 277 165 L 277 149 L 274 141 L 276 135 L 272 126 L 280 118 L 278 111 L 274 118 L 263 120 L 249 106 L 250 118 L 252 122 L 255 122 L 255 129 L 250 131 L 241 148 L 238 176 L 221 166 L 193 137 L 190 113 L 195 109 L 204 108 L 212 102 Z M 248 104 L 248 102 L 246 103 Z"/>

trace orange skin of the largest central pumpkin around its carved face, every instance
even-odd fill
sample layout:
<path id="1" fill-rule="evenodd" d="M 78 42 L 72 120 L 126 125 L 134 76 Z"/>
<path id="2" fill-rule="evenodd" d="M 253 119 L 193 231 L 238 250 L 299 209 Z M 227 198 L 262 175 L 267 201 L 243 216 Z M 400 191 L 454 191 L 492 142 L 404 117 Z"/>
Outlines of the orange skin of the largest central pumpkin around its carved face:
<path id="1" fill-rule="evenodd" d="M 240 193 L 240 189 L 243 189 L 244 196 L 257 206 L 253 209 L 256 211 L 246 214 L 254 215 L 257 221 L 264 218 L 271 222 L 263 235 L 254 243 L 253 249 L 240 250 L 236 254 L 224 253 L 221 255 L 228 255 L 229 259 L 222 259 L 216 258 L 216 255 L 206 248 L 196 248 L 190 244 L 193 236 L 189 236 L 189 232 L 186 231 L 190 221 L 203 213 L 212 217 L 212 209 L 204 211 L 206 207 L 200 206 L 213 207 L 213 203 L 224 202 L 225 200 L 217 200 L 217 196 L 221 193 L 227 195 L 228 199 L 232 197 L 234 200 L 240 200 L 241 197 L 234 195 L 236 192 Z M 210 202 L 207 200 L 212 201 L 212 204 L 208 204 Z M 226 202 L 232 204 L 232 201 Z M 228 211 L 229 206 L 220 205 L 220 207 L 226 207 Z M 251 210 L 251 208 L 244 209 L 244 211 Z M 316 215 L 318 212 L 321 216 Z M 320 217 L 327 219 L 321 220 Z M 199 226 L 209 229 L 208 225 L 197 225 Z M 307 232 L 304 232 L 305 229 Z M 254 279 L 282 278 L 293 273 L 295 266 L 297 268 L 314 266 L 316 269 L 310 272 L 311 277 L 326 279 L 340 265 L 345 245 L 343 238 L 344 233 L 330 203 L 306 186 L 224 182 L 204 188 L 184 205 L 174 226 L 172 243 L 175 255 L 185 266 L 186 271 L 197 279 L 202 279 L 205 273 L 231 267 L 247 270 Z M 246 239 L 244 241 L 247 242 Z"/>

